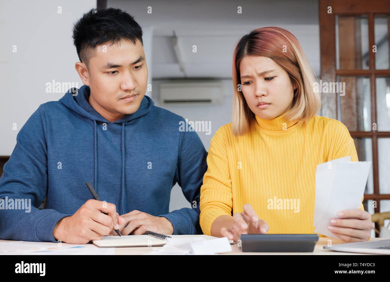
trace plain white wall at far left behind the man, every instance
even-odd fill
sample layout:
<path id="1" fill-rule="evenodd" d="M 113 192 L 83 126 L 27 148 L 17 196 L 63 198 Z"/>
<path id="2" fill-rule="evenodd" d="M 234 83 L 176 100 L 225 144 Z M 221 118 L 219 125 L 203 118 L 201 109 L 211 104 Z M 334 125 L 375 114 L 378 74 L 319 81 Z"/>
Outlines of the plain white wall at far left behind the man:
<path id="1" fill-rule="evenodd" d="M 40 104 L 64 96 L 46 93 L 46 82 L 83 85 L 74 68 L 79 60 L 72 28 L 95 7 L 96 0 L 0 2 L 0 156 L 11 155 L 16 135 Z"/>

